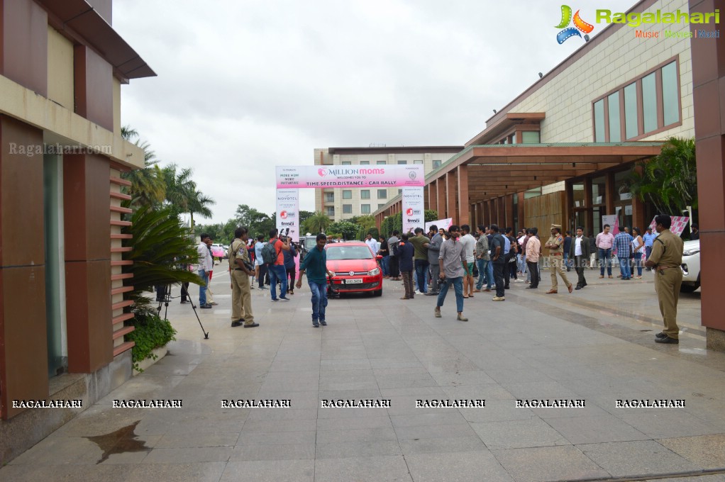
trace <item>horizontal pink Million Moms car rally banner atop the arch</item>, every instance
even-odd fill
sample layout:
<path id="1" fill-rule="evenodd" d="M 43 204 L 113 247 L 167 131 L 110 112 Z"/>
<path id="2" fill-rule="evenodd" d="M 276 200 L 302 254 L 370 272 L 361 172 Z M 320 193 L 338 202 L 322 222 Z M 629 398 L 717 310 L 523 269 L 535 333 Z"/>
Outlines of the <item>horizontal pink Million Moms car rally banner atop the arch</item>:
<path id="1" fill-rule="evenodd" d="M 425 185 L 426 173 L 422 164 L 277 166 L 278 189 L 422 188 Z"/>

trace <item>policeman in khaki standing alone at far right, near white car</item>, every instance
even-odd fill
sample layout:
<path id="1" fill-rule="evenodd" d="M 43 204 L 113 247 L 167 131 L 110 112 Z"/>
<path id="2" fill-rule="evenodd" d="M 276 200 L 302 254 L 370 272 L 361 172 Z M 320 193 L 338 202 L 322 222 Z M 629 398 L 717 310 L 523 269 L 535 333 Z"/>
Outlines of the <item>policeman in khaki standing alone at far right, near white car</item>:
<path id="1" fill-rule="evenodd" d="M 655 335 L 657 343 L 679 344 L 679 328 L 677 327 L 677 300 L 682 285 L 682 250 L 684 242 L 671 230 L 672 218 L 668 215 L 655 217 L 655 229 L 659 236 L 652 245 L 652 254 L 645 266 L 655 270 L 655 291 L 660 302 L 665 329 Z"/>

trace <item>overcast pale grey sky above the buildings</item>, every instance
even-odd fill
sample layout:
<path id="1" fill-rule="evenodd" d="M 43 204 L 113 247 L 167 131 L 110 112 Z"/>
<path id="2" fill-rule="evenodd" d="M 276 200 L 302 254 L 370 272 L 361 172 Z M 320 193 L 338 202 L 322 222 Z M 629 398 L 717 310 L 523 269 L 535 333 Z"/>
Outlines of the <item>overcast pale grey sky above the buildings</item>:
<path id="1" fill-rule="evenodd" d="M 600 3 L 581 17 L 636 2 Z M 271 214 L 275 166 L 312 164 L 315 148 L 463 145 L 584 43 L 556 42 L 561 5 L 117 0 L 115 30 L 158 75 L 123 86 L 122 122 L 162 164 L 194 169 L 217 201 L 202 223 L 238 204 Z"/>

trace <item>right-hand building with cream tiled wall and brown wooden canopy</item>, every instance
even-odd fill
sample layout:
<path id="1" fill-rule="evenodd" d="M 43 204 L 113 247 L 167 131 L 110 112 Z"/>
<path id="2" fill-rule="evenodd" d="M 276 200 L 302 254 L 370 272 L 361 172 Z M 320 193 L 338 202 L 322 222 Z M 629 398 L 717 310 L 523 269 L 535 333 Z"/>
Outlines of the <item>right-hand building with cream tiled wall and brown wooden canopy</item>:
<path id="1" fill-rule="evenodd" d="M 642 0 L 627 14 L 659 9 L 714 17 L 716 9 L 725 11 L 724 3 Z M 458 224 L 558 223 L 598 233 L 602 215 L 617 215 L 620 225 L 642 228 L 655 212 L 631 196 L 624 180 L 638 161 L 659 154 L 666 138 L 694 137 L 701 246 L 711 243 L 708 256 L 718 257 L 700 273 L 703 325 L 708 346 L 724 350 L 725 320 L 716 315 L 718 300 L 708 289 L 718 286 L 718 266 L 725 262 L 716 249 L 725 236 L 725 46 L 719 34 L 689 37 L 692 30 L 719 28 L 712 22 L 608 25 L 509 101 L 463 151 L 426 177 L 426 208 Z M 397 197 L 378 209 L 378 226 L 401 204 Z"/>

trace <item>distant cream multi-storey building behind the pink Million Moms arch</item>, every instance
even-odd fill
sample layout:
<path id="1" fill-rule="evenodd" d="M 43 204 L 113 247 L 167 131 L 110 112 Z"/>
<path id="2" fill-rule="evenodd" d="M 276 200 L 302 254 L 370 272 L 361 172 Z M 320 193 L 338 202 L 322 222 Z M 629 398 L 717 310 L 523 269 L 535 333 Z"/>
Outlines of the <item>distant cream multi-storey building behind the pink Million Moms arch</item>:
<path id="1" fill-rule="evenodd" d="M 331 147 L 315 149 L 315 165 L 420 164 L 427 175 L 441 167 L 461 149 L 463 146 Z M 399 194 L 398 188 L 317 189 L 315 211 L 324 212 L 334 221 L 372 215 Z"/>

